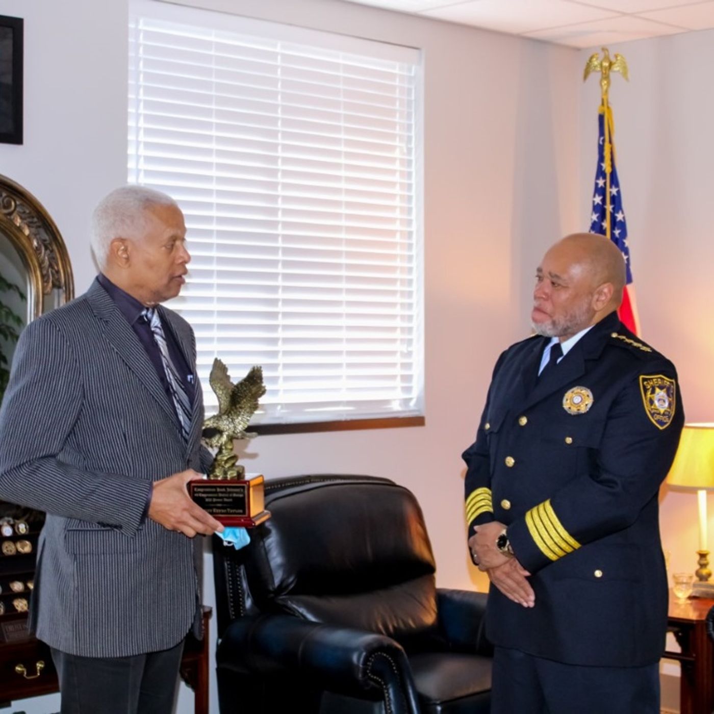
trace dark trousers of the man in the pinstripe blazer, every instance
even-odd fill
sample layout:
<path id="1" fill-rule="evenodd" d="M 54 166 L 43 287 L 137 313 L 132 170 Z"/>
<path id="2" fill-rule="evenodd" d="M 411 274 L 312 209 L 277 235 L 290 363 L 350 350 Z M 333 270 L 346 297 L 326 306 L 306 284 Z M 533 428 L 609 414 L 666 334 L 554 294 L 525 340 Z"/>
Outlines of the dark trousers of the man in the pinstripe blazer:
<path id="1" fill-rule="evenodd" d="M 183 642 L 131 657 L 79 657 L 52 649 L 61 714 L 171 714 Z"/>

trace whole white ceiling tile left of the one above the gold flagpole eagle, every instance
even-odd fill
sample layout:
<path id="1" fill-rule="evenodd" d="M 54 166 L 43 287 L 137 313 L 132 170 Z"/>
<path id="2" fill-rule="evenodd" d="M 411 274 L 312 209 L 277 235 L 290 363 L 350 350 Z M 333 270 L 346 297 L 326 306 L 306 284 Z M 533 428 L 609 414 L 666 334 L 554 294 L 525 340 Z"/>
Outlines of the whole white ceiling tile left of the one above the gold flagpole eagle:
<path id="1" fill-rule="evenodd" d="M 566 0 L 471 0 L 427 10 L 422 14 L 513 34 L 615 15 L 608 10 Z"/>

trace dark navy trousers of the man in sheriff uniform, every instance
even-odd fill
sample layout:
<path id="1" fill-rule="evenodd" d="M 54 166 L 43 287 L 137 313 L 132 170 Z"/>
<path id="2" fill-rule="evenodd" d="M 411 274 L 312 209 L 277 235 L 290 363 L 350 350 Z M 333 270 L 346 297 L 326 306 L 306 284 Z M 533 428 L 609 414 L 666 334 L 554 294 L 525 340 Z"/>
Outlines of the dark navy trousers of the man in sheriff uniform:
<path id="1" fill-rule="evenodd" d="M 659 666 L 580 667 L 497 647 L 491 714 L 659 714 Z"/>

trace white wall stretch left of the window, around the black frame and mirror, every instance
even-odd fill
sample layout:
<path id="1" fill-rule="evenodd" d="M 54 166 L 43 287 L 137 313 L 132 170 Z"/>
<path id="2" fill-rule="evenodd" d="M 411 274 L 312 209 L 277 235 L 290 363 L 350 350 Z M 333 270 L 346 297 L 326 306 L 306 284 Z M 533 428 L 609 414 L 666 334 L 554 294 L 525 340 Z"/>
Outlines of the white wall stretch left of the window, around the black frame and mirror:
<path id="1" fill-rule="evenodd" d="M 91 209 L 126 181 L 126 0 L 0 0 L 0 14 L 25 19 L 24 145 L 0 144 L 0 174 L 54 218 L 81 293 Z"/>

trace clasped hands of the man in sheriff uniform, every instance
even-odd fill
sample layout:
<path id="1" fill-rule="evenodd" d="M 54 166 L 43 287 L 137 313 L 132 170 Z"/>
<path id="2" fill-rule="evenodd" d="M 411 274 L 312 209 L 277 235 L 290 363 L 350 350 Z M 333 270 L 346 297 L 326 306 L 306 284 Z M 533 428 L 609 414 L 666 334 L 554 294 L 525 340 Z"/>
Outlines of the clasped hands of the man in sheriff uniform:
<path id="1" fill-rule="evenodd" d="M 496 539 L 506 526 L 498 521 L 483 523 L 473 530 L 475 535 L 468 539 L 468 547 L 473 553 L 473 560 L 479 570 L 483 570 L 493 585 L 514 603 L 532 608 L 535 605 L 535 593 L 528 582 L 528 573 L 512 555 L 501 553 L 496 548 Z"/>

